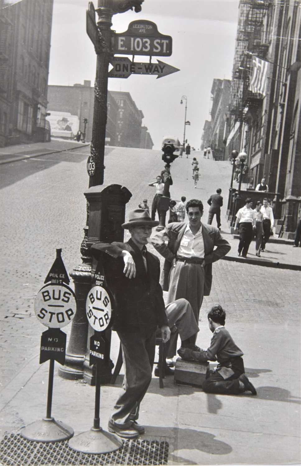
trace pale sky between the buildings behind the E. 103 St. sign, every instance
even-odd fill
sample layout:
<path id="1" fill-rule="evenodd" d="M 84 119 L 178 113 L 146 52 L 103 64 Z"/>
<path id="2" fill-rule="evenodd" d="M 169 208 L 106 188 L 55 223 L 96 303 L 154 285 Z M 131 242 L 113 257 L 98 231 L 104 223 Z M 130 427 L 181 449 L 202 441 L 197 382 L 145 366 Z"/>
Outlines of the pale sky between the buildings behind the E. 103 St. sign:
<path id="1" fill-rule="evenodd" d="M 154 149 L 161 149 L 165 135 L 183 139 L 187 96 L 186 137 L 195 148 L 201 144 L 204 121 L 210 119 L 210 90 L 214 78 L 231 79 L 239 0 L 145 0 L 142 11 L 113 16 L 117 33 L 134 20 L 156 23 L 161 34 L 173 38 L 173 53 L 159 60 L 179 68 L 172 75 L 131 75 L 109 78 L 109 90 L 131 93 L 144 114 Z M 97 7 L 97 0 L 94 1 Z M 96 70 L 94 47 L 86 34 L 87 0 L 54 0 L 49 84 L 70 85 L 91 80 Z M 135 56 L 148 62 L 147 56 Z M 152 62 L 156 63 L 153 58 Z"/>

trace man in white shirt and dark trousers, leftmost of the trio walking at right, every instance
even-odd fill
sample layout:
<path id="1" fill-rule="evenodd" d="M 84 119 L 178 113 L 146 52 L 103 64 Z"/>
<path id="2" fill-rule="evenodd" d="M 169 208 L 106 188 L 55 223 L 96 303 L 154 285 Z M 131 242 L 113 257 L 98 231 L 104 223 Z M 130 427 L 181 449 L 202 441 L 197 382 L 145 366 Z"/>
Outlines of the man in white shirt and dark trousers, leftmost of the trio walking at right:
<path id="1" fill-rule="evenodd" d="M 246 258 L 253 237 L 253 229 L 256 229 L 256 213 L 252 209 L 252 199 L 245 199 L 245 207 L 238 210 L 234 230 L 239 224 L 238 256 Z"/>

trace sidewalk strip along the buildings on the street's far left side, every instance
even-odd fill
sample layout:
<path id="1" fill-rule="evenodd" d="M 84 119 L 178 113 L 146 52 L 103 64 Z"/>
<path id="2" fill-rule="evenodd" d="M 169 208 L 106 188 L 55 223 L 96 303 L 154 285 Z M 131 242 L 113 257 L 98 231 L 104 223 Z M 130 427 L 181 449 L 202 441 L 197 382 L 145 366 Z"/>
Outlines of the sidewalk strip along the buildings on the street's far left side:
<path id="1" fill-rule="evenodd" d="M 52 139 L 48 143 L 18 144 L 0 147 L 0 164 L 8 164 L 24 158 L 40 157 L 41 155 L 54 154 L 56 152 L 72 151 L 89 145 L 76 141 Z"/>

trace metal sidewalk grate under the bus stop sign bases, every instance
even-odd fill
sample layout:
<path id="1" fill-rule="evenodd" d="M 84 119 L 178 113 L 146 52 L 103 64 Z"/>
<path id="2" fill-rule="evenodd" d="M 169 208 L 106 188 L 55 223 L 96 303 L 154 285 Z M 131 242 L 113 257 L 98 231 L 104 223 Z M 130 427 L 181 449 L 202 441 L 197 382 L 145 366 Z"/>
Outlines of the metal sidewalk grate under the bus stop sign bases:
<path id="1" fill-rule="evenodd" d="M 67 440 L 31 442 L 20 434 L 10 434 L 0 442 L 0 465 L 167 465 L 168 446 L 165 440 L 124 440 L 119 450 L 95 455 L 72 450 Z"/>

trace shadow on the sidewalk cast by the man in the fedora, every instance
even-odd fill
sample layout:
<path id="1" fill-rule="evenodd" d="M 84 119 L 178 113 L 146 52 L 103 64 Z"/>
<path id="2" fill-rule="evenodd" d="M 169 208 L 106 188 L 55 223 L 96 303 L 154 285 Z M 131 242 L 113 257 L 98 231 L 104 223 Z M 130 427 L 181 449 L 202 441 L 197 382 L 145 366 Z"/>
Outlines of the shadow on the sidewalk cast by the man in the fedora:
<path id="1" fill-rule="evenodd" d="M 174 451 L 178 450 L 196 450 L 197 448 L 198 451 L 211 455 L 228 455 L 232 451 L 231 445 L 216 439 L 215 435 L 208 432 L 195 429 L 181 429 L 180 427 L 147 426 L 147 432 L 150 430 L 154 430 L 156 437 L 165 437 L 169 439 L 169 464 L 199 464 L 177 456 Z M 172 436 L 171 432 L 173 434 Z M 149 437 L 149 434 L 147 437 Z M 173 445 L 170 445 L 172 443 Z"/>

